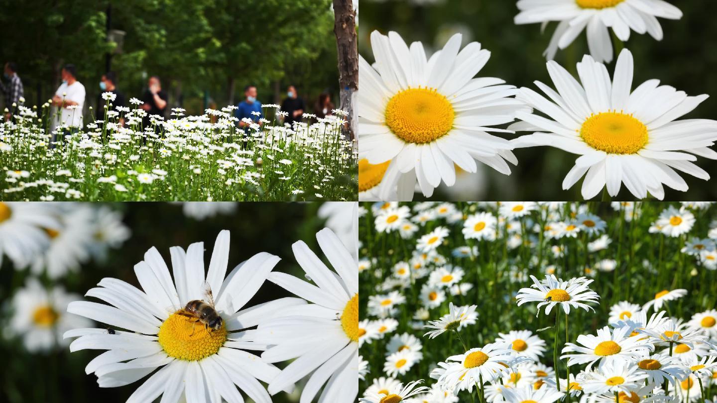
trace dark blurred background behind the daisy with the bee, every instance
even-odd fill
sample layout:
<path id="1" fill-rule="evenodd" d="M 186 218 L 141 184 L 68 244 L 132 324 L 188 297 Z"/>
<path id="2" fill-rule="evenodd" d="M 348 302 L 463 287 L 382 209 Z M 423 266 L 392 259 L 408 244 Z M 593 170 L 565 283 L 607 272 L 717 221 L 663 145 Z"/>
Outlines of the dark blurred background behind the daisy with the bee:
<path id="1" fill-rule="evenodd" d="M 60 205 L 47 204 L 52 204 L 50 208 L 57 208 Z M 188 204 L 190 206 L 187 206 Z M 98 387 L 97 377 L 94 374 L 85 374 L 87 363 L 103 351 L 82 350 L 71 354 L 67 345 L 54 346 L 49 351 L 29 351 L 24 341 L 29 332 L 18 331 L 13 324 L 16 321 L 16 313 L 23 308 L 14 306 L 13 297 L 19 290 L 25 288 L 27 280 L 37 278 L 48 290 L 62 287 L 68 293 L 76 293 L 80 296 L 95 287 L 102 278 L 108 277 L 118 278 L 140 287 L 133 267 L 143 260 L 144 253 L 148 249 L 156 247 L 171 270 L 169 247 L 180 246 L 186 250 L 186 247 L 193 242 L 204 242 L 205 265 L 209 265 L 214 241 L 222 229 L 231 231 L 229 270 L 258 252 L 269 252 L 282 258 L 275 271 L 288 272 L 303 278 L 304 272 L 295 262 L 291 245 L 303 240 L 321 256 L 315 233 L 327 226 L 331 227 L 344 242 L 350 242 L 351 239 L 356 242 L 356 235 L 351 235 L 350 230 L 347 231 L 353 223 L 350 212 L 354 205 L 353 202 L 63 204 L 60 211 L 66 217 L 72 216 L 81 209 L 101 208 L 118 212 L 121 223 L 98 222 L 97 228 L 101 229 L 103 225 L 112 227 L 106 229 L 116 234 L 116 231 L 125 227 L 125 231 L 128 229 L 129 232 L 125 236 L 113 237 L 115 240 L 122 238 L 125 240 L 110 248 L 104 258 L 88 259 L 77 265 L 75 271 L 70 268 L 70 271 L 54 280 L 49 278 L 44 269 L 34 273 L 31 273 L 30 269 L 16 270 L 9 257 L 6 256 L 1 260 L 0 308 L 3 332 L 0 334 L 0 357 L 2 357 L 0 361 L 3 363 L 3 369 L 0 371 L 0 402 L 124 402 L 146 379 L 143 378 L 125 387 L 103 389 Z M 17 204 L 9 204 L 9 206 L 11 210 L 19 212 Z M 2 221 L 0 219 L 0 223 Z M 354 228 L 355 225 L 353 224 Z M 0 225 L 0 232 L 3 229 Z M 70 224 L 65 229 L 70 231 Z M 95 234 L 98 233 L 100 232 Z M 77 232 L 75 234 L 78 238 L 83 237 Z M 99 237 L 95 236 L 95 238 Z M 356 250 L 355 244 L 353 250 Z M 54 258 L 59 258 L 60 254 L 55 253 L 57 255 Z M 290 295 L 283 288 L 266 282 L 246 306 L 285 296 Z M 87 299 L 95 300 L 95 298 Z M 62 313 L 58 314 L 61 319 Z M 105 326 L 95 323 L 94 327 Z M 279 365 L 285 366 L 285 364 Z M 301 387 L 303 385 L 300 385 L 297 391 Z M 282 392 L 272 399 L 273 402 L 280 403 L 298 402 L 299 395 L 298 392 L 292 395 Z"/>

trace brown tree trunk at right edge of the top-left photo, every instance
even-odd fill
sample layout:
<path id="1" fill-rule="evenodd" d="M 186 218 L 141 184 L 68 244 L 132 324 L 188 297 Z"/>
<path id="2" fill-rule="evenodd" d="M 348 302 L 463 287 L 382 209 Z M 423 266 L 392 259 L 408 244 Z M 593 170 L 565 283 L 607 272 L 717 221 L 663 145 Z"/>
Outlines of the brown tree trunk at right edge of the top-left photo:
<path id="1" fill-rule="evenodd" d="M 353 140 L 356 136 L 357 119 L 353 110 L 353 100 L 359 89 L 359 49 L 356 44 L 356 11 L 353 0 L 333 0 L 333 12 L 336 22 L 333 32 L 336 34 L 338 50 L 338 83 L 341 105 L 348 112 L 348 125 L 343 129 L 344 136 Z"/>

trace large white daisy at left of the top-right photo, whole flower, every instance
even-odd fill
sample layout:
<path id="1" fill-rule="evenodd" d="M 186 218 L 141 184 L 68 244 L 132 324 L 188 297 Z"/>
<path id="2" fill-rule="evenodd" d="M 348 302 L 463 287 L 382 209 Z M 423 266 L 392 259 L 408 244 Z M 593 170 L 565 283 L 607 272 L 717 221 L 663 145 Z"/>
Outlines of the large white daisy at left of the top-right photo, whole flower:
<path id="1" fill-rule="evenodd" d="M 508 98 L 516 89 L 503 80 L 473 78 L 490 52 L 478 42 L 460 50 L 461 39 L 455 34 L 428 59 L 421 42 L 408 47 L 396 32 L 371 33 L 375 68 L 359 57 L 359 158 L 391 161 L 381 196 L 398 188 L 410 200 L 416 181 L 431 196 L 441 181 L 455 184 L 455 166 L 475 173 L 476 160 L 502 174 L 511 173 L 506 160 L 518 162 L 511 143 L 488 132 L 505 132 L 490 126 L 528 108 Z"/>

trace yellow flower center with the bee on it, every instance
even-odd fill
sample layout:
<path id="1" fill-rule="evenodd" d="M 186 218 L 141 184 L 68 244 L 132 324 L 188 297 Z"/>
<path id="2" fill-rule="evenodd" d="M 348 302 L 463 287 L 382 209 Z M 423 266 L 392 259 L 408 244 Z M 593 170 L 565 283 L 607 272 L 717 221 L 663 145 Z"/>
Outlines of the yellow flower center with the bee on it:
<path id="1" fill-rule="evenodd" d="M 227 341 L 227 328 L 206 328 L 196 318 L 180 315 L 176 311 L 159 328 L 158 341 L 168 356 L 186 361 L 199 361 L 224 346 Z"/>

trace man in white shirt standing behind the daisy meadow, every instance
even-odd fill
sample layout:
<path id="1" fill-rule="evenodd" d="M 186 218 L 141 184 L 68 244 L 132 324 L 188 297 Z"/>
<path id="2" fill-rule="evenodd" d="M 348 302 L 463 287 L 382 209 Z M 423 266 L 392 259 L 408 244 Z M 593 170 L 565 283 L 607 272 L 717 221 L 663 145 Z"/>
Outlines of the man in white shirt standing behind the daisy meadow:
<path id="1" fill-rule="evenodd" d="M 52 97 L 52 126 L 82 128 L 82 108 L 85 107 L 85 86 L 77 81 L 75 65 L 62 67 L 62 85 Z M 54 136 L 53 136 L 53 141 Z"/>

